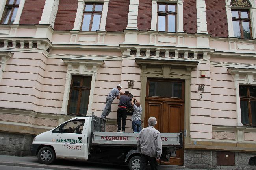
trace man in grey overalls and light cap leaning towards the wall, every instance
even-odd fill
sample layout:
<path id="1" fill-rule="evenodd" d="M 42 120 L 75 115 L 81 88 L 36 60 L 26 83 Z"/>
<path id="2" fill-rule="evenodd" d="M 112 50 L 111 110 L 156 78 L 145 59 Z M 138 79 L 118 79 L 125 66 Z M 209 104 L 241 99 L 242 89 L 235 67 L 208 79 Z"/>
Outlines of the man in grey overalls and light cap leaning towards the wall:
<path id="1" fill-rule="evenodd" d="M 124 95 L 123 92 L 121 92 L 120 90 L 122 90 L 122 85 L 118 84 L 117 88 L 113 88 L 109 95 L 106 98 L 106 106 L 101 114 L 101 118 L 104 119 L 105 121 L 107 121 L 108 119 L 106 119 L 106 117 L 109 115 L 109 113 L 111 112 L 111 105 L 113 103 L 113 100 L 115 99 L 115 97 L 117 97 L 117 99 L 120 99 L 120 95 Z"/>

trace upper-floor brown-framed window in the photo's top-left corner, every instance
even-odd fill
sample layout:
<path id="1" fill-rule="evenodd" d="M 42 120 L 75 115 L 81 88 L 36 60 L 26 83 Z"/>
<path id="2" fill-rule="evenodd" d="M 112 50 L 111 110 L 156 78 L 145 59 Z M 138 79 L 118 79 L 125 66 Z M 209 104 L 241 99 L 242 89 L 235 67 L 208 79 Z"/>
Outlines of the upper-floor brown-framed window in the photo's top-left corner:
<path id="1" fill-rule="evenodd" d="M 7 0 L 1 24 L 12 24 L 15 20 L 20 0 Z"/>

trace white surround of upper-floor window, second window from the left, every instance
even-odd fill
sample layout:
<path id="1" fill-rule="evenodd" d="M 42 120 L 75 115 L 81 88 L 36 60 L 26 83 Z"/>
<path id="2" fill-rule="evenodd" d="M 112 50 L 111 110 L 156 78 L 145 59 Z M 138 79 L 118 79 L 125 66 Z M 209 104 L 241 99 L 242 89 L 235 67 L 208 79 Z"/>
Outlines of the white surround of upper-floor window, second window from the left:
<path id="1" fill-rule="evenodd" d="M 100 31 L 105 31 L 109 0 L 78 0 L 78 7 L 77 7 L 77 11 L 76 11 L 76 20 L 74 23 L 74 28 L 72 30 L 80 30 L 85 3 L 90 3 L 90 2 L 103 3 L 102 15 L 101 15 L 101 19 L 100 19 Z"/>

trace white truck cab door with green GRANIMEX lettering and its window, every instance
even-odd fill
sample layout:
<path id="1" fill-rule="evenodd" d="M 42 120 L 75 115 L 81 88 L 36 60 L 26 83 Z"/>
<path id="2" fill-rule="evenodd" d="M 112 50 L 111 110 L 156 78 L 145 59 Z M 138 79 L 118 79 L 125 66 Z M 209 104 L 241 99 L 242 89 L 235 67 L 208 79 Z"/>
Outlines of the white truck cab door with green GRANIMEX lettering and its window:
<path id="1" fill-rule="evenodd" d="M 83 152 L 87 147 L 86 124 L 87 119 L 76 119 L 62 124 L 56 141 L 56 157 L 85 159 Z"/>

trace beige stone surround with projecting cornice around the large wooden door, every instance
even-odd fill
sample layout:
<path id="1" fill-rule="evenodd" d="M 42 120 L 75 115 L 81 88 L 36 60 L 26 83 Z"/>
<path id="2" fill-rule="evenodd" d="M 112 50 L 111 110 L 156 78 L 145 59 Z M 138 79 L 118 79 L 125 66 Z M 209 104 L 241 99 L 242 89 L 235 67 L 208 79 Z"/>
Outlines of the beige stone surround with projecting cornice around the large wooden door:
<path id="1" fill-rule="evenodd" d="M 197 67 L 197 61 L 174 61 L 171 59 L 144 59 L 135 58 L 135 62 L 141 68 L 141 89 L 146 89 L 147 77 L 182 79 L 185 80 L 185 106 L 184 106 L 184 128 L 187 130 L 187 136 L 190 136 L 190 88 L 191 71 Z M 178 69 L 177 69 L 178 68 Z M 182 70 L 182 71 L 181 71 Z M 146 90 L 141 90 L 141 105 L 145 106 Z M 144 119 L 143 110 L 141 119 Z M 145 125 L 144 125 L 145 127 Z M 190 143 L 191 138 L 185 137 L 185 143 Z"/>

